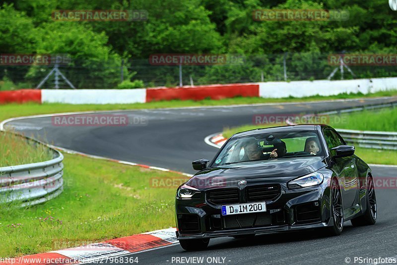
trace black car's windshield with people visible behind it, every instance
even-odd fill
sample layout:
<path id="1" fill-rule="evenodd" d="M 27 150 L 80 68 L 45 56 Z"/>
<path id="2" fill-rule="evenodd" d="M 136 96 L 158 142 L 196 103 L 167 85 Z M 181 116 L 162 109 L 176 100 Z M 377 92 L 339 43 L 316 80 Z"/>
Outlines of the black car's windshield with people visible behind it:
<path id="1" fill-rule="evenodd" d="M 317 132 L 272 132 L 231 139 L 211 166 L 313 156 L 324 156 Z"/>

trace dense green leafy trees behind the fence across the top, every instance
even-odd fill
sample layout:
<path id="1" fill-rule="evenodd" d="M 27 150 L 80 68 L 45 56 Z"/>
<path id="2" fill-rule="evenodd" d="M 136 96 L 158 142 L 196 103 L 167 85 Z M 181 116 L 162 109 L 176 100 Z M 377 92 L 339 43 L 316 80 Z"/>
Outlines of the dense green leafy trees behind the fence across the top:
<path id="1" fill-rule="evenodd" d="M 0 6 L 1 53 L 67 53 L 64 69 L 77 88 L 110 88 L 137 72 L 146 84 L 179 84 L 177 67 L 139 65 L 156 53 L 244 54 L 244 65 L 185 67 L 199 84 L 324 79 L 332 53 L 396 53 L 397 12 L 385 0 L 5 0 Z M 256 21 L 256 9 L 339 9 L 344 21 Z M 54 10 L 144 9 L 146 21 L 54 21 Z M 122 66 L 121 58 L 125 59 Z M 143 67 L 144 66 L 144 67 Z M 138 67 L 138 68 L 139 68 Z M 0 80 L 4 73 L 0 68 Z M 9 79 L 37 83 L 49 71 L 7 67 Z M 131 70 L 129 73 L 129 70 Z M 396 70 L 361 67 L 356 78 L 393 76 Z M 315 72 L 315 73 L 314 73 Z M 150 76 L 148 75 L 150 73 Z M 186 77 L 185 77 L 186 76 Z M 337 74 L 336 79 L 340 78 Z M 353 78 L 345 76 L 345 78 Z"/>

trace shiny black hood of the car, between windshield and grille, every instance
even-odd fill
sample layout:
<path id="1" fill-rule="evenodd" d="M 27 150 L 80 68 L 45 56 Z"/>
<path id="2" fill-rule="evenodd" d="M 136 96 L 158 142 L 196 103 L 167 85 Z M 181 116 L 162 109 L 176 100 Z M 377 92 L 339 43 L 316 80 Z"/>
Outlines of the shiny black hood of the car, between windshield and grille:
<path id="1" fill-rule="evenodd" d="M 186 184 L 198 189 L 235 187 L 240 180 L 248 184 L 282 183 L 326 167 L 322 157 L 281 158 L 245 162 L 200 171 Z"/>

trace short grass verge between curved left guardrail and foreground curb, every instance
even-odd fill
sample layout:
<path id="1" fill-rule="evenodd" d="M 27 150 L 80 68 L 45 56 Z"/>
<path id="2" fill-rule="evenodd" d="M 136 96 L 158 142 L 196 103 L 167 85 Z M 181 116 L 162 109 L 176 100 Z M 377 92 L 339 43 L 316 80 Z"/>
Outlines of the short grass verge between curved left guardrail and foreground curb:
<path id="1" fill-rule="evenodd" d="M 0 257 L 16 257 L 175 227 L 176 173 L 65 154 L 64 192 L 27 209 L 0 208 Z M 155 182 L 153 182 L 155 183 Z"/>

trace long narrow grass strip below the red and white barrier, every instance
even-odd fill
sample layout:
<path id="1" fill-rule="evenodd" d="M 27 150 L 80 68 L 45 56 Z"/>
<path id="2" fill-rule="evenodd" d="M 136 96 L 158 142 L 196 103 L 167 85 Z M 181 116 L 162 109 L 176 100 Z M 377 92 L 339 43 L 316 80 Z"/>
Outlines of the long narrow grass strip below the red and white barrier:
<path id="1" fill-rule="evenodd" d="M 308 97 L 284 97 L 284 98 L 263 98 L 263 97 L 234 97 L 221 100 L 204 99 L 194 100 L 170 100 L 156 101 L 149 103 L 132 103 L 132 104 L 62 104 L 62 103 L 25 103 L 25 104 L 5 104 L 0 105 L 0 120 L 13 118 L 18 116 L 28 116 L 37 114 L 49 114 L 57 112 L 71 111 L 89 111 L 89 110 L 125 110 L 125 109 L 153 109 L 167 107 L 187 107 L 187 106 L 215 106 L 215 105 L 231 105 L 231 104 L 255 104 L 255 103 L 277 103 L 292 101 L 316 101 L 325 99 L 344 99 L 358 97 L 377 97 L 377 96 L 396 96 L 396 90 L 380 91 L 376 93 L 340 93 L 333 96 L 308 96 Z"/>

